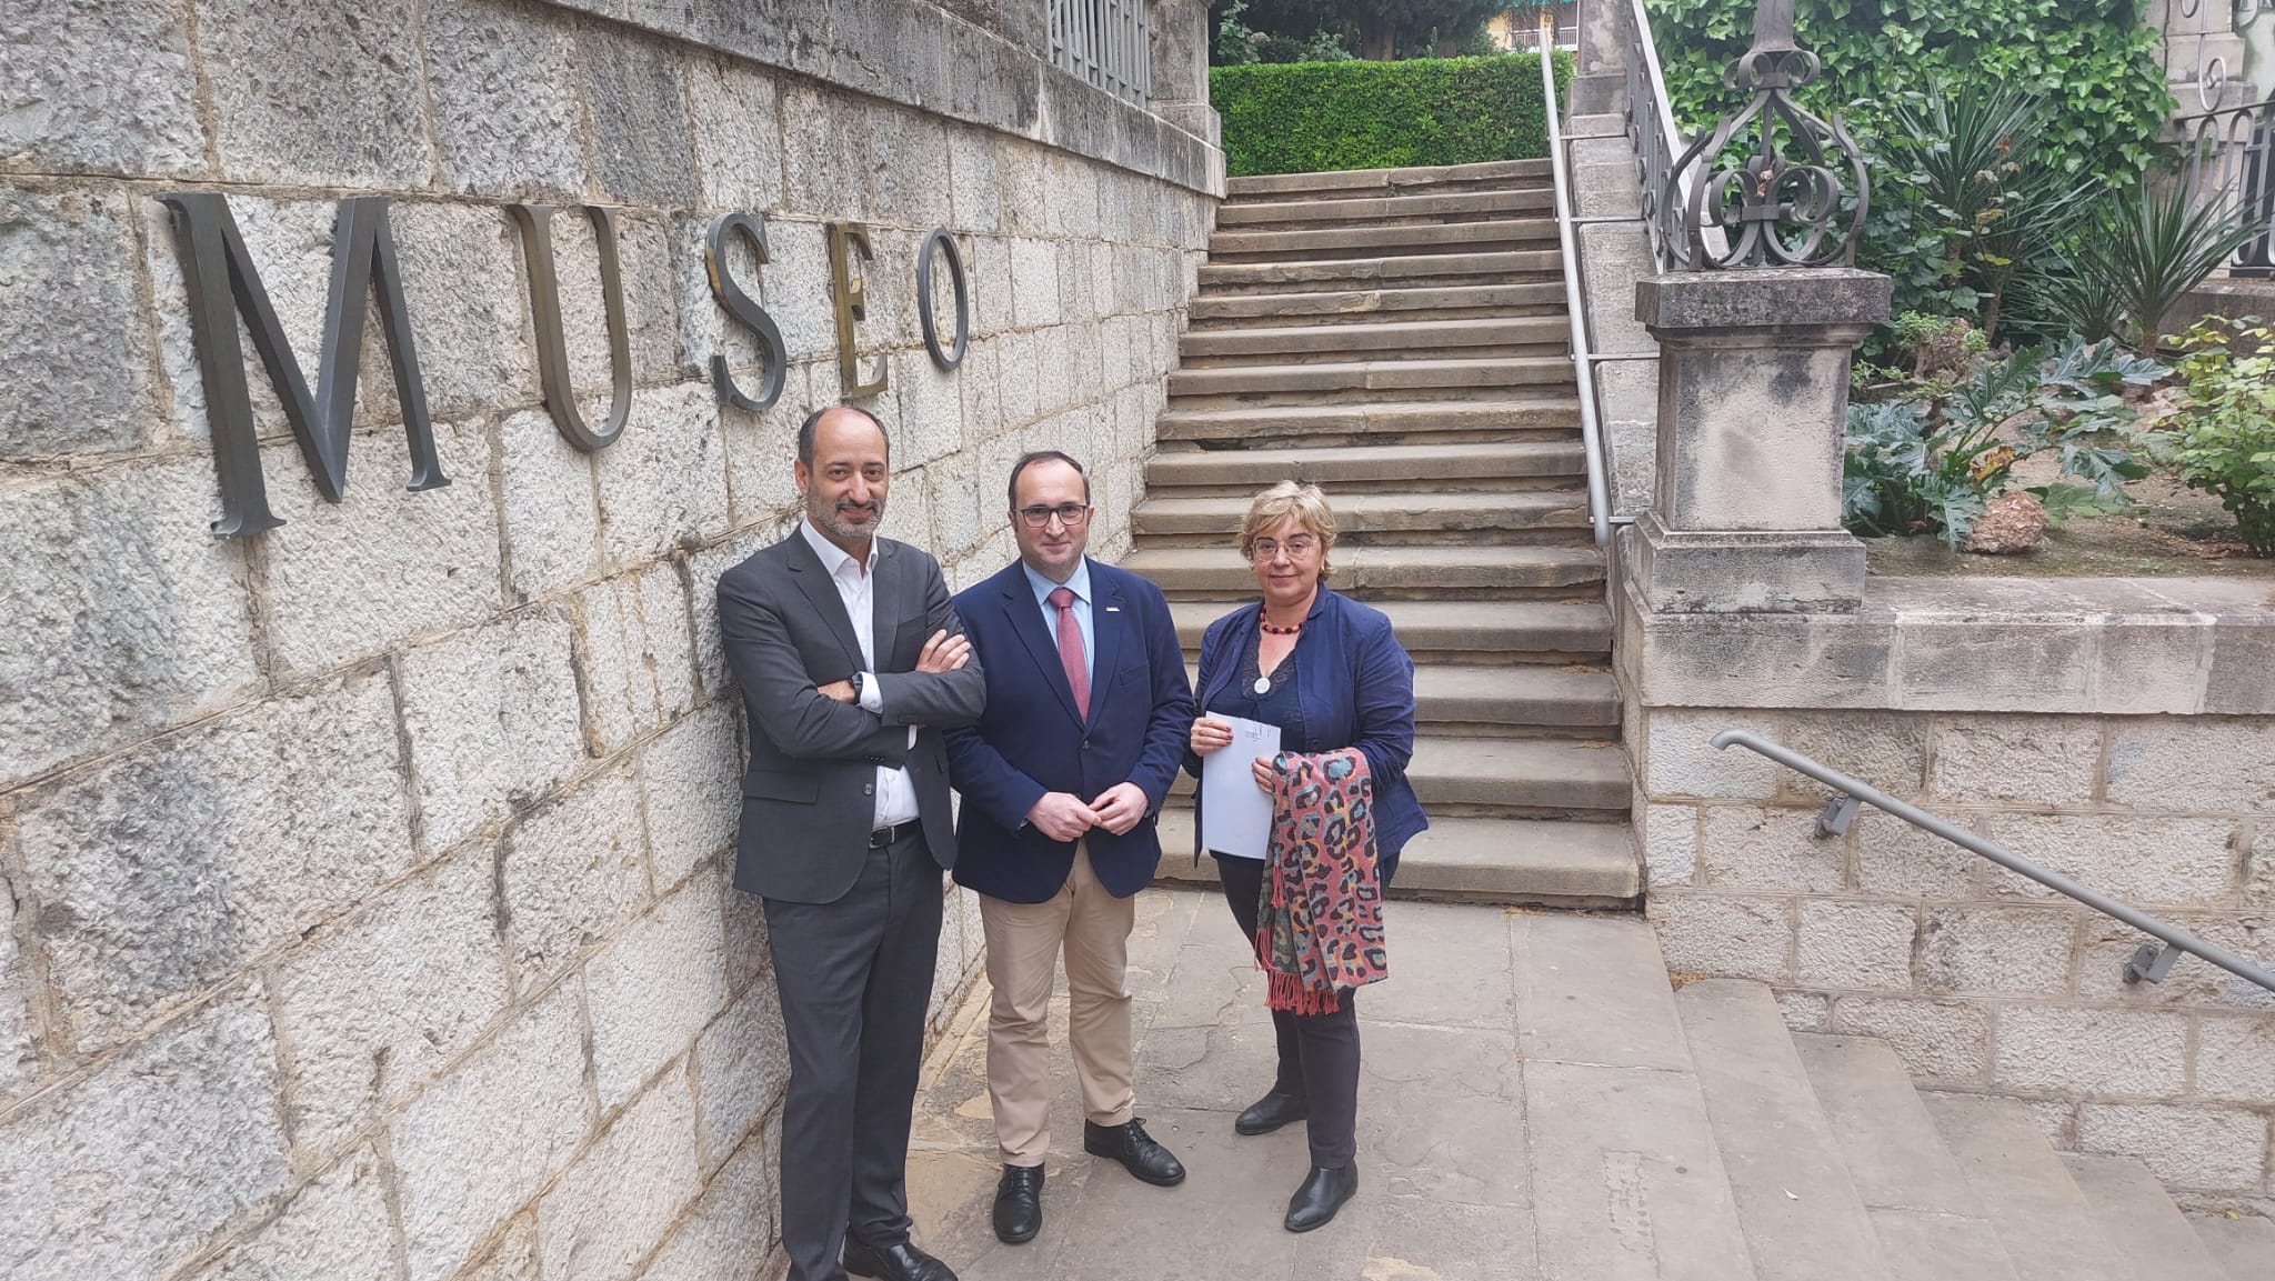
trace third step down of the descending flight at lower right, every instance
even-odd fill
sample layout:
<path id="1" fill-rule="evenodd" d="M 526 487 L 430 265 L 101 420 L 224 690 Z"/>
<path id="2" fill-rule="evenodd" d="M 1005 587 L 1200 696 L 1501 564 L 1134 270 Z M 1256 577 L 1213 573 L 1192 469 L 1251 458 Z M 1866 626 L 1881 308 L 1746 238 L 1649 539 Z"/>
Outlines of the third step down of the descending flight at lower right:
<path id="1" fill-rule="evenodd" d="M 2022 1104 L 1988 1094 L 1925 1094 L 1925 1104 L 2020 1281 L 2136 1281 Z"/>

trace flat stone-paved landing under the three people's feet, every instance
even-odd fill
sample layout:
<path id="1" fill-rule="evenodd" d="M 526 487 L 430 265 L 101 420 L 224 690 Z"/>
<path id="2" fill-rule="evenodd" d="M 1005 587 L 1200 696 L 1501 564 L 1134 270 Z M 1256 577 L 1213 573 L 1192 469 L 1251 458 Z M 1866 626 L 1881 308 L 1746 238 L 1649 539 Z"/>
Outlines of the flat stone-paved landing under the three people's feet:
<path id="1" fill-rule="evenodd" d="M 1138 1113 L 1188 1181 L 1149 1188 L 1083 1156 L 1060 987 L 1044 1229 L 996 1242 L 981 983 L 917 1101 L 919 1242 L 962 1281 L 1536 1281 L 1624 1276 L 1645 1261 L 1665 1276 L 1736 1276 L 1745 1249 L 1720 1222 L 1729 1190 L 1649 926 L 1395 901 L 1388 933 L 1390 978 L 1358 997 L 1360 1192 L 1326 1229 L 1281 1226 L 1308 1165 L 1301 1126 L 1231 1129 L 1274 1067 L 1263 983 L 1231 912 L 1213 887 L 1153 887 L 1131 940 Z"/>

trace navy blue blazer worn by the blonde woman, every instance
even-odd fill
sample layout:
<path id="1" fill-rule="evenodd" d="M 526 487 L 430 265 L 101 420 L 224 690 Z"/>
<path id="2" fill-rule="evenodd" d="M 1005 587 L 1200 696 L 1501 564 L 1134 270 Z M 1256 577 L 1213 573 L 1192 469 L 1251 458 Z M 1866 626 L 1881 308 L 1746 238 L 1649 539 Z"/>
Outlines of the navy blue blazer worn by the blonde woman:
<path id="1" fill-rule="evenodd" d="M 1240 671 L 1240 646 L 1256 635 L 1263 601 L 1242 605 L 1208 623 L 1201 635 L 1199 712 Z M 969 621 L 965 623 L 969 626 Z M 1372 608 L 1320 587 L 1294 639 L 1297 701 L 1313 751 L 1356 746 L 1374 776 L 1374 849 L 1383 883 L 1399 867 L 1399 851 L 1429 826 L 1406 762 L 1415 755 L 1415 660 L 1390 630 L 1390 619 Z M 953 735 L 953 730 L 951 730 Z M 953 742 L 953 739 L 951 739 Z M 1185 769 L 1201 776 L 1201 758 L 1185 751 Z M 1192 799 L 1192 851 L 1201 853 L 1201 796 Z"/>

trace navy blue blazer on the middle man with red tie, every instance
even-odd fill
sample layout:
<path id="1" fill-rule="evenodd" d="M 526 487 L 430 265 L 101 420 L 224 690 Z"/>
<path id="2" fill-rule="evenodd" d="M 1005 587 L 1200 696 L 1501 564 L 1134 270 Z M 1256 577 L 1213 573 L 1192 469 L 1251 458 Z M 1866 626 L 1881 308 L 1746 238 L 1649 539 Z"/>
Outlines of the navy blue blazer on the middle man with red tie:
<path id="1" fill-rule="evenodd" d="M 1044 792 L 1085 803 L 1117 783 L 1144 792 L 1147 815 L 1112 835 L 1092 828 L 1090 867 L 1106 892 L 1128 899 L 1160 865 L 1156 815 L 1192 733 L 1192 685 L 1160 587 L 1090 562 L 1090 719 L 1074 708 L 1058 639 L 1015 560 L 956 596 L 956 617 L 987 671 L 987 710 L 946 730 L 949 778 L 965 805 L 956 819 L 956 883 L 1010 903 L 1042 903 L 1074 871 L 1074 842 L 1056 842 L 1026 812 Z"/>

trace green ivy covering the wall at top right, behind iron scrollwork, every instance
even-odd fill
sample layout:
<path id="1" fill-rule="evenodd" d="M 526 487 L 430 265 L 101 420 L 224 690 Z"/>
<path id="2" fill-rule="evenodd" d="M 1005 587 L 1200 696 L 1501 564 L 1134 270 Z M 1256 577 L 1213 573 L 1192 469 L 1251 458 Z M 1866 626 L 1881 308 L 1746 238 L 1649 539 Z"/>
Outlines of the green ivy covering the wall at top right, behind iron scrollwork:
<path id="1" fill-rule="evenodd" d="M 1754 0 L 1645 5 L 1677 123 L 1713 125 L 1738 102 L 1722 73 L 1754 41 Z M 2123 184 L 2173 109 L 2141 0 L 1797 0 L 1795 39 L 1825 61 L 1804 105 L 1866 141 L 1906 93 L 2007 84 L 2052 107 L 2038 155 Z"/>

